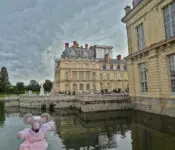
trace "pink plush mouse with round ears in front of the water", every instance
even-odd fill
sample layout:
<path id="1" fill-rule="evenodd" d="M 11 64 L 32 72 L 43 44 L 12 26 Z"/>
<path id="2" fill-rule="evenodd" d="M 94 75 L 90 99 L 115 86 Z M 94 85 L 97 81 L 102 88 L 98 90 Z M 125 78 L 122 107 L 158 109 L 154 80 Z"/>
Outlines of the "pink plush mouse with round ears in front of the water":
<path id="1" fill-rule="evenodd" d="M 47 113 L 41 116 L 26 114 L 23 121 L 26 125 L 31 125 L 31 128 L 18 132 L 18 137 L 24 139 L 19 150 L 47 150 L 48 143 L 45 136 L 48 132 L 56 130 L 54 122 L 50 122 L 50 115 Z"/>

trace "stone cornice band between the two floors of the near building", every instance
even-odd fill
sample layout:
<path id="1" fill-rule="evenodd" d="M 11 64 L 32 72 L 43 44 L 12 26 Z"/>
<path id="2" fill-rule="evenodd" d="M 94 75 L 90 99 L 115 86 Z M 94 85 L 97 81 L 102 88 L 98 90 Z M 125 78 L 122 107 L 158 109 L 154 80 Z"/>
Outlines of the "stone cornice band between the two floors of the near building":
<path id="1" fill-rule="evenodd" d="M 134 58 L 136 56 L 139 56 L 139 55 L 143 55 L 151 50 L 154 50 L 154 49 L 161 49 L 161 47 L 164 47 L 164 46 L 168 46 L 172 43 L 175 42 L 175 37 L 172 37 L 170 38 L 169 40 L 163 40 L 163 41 L 160 41 L 158 43 L 154 43 L 152 45 L 150 45 L 149 47 L 145 48 L 144 50 L 142 51 L 137 51 L 137 52 L 134 52 L 134 53 L 131 53 L 129 54 L 127 57 L 125 57 L 124 59 L 125 60 L 128 60 L 128 59 L 131 59 L 131 58 Z"/>

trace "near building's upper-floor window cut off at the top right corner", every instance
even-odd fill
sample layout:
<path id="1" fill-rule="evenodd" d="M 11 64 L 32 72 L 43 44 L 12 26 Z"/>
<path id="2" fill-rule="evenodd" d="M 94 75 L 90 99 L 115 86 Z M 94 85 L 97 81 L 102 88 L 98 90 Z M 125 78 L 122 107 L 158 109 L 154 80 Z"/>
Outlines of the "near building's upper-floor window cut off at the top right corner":
<path id="1" fill-rule="evenodd" d="M 175 36 L 175 2 L 163 9 L 166 38 Z"/>

